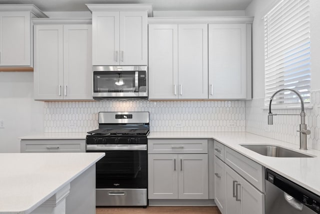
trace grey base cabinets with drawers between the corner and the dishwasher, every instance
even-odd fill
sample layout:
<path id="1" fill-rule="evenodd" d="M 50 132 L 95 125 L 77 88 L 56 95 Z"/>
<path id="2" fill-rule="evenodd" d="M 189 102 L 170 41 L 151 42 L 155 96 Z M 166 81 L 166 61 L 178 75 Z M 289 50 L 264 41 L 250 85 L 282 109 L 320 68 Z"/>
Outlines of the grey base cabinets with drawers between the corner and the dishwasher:
<path id="1" fill-rule="evenodd" d="M 224 148 L 220 143 L 217 145 L 219 150 L 224 150 L 219 157 L 214 156 L 214 201 L 220 212 L 222 214 L 264 214 L 264 193 L 258 189 L 259 182 L 254 186 L 240 175 L 240 173 L 250 175 L 251 172 L 248 169 L 253 161 L 234 150 L 231 151 L 226 146 Z M 226 164 L 230 153 L 237 155 L 238 162 L 242 164 L 241 168 L 231 168 Z"/>

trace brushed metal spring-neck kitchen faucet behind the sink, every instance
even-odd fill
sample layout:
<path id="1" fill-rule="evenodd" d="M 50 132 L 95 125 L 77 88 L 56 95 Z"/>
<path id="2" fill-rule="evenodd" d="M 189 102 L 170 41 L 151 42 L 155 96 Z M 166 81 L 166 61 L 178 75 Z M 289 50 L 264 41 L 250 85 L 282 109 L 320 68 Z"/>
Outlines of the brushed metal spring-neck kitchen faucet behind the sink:
<path id="1" fill-rule="evenodd" d="M 271 112 L 271 102 L 273 100 L 273 97 L 281 92 L 281 91 L 291 91 L 293 93 L 295 93 L 301 102 L 301 113 L 300 114 L 272 114 Z M 303 99 L 301 97 L 301 95 L 299 94 L 299 92 L 297 92 L 294 89 L 290 89 L 290 88 L 282 88 L 277 90 L 276 92 L 274 92 L 272 94 L 272 96 L 270 97 L 270 104 L 269 104 L 269 114 L 268 114 L 268 125 L 272 125 L 273 124 L 273 115 L 300 115 L 301 117 L 301 124 L 299 125 L 299 130 L 297 132 L 300 132 L 300 149 L 307 149 L 307 145 L 306 145 L 306 135 L 310 134 L 310 130 L 306 129 L 306 124 L 305 124 L 305 112 L 304 112 L 304 103 L 303 103 Z"/>

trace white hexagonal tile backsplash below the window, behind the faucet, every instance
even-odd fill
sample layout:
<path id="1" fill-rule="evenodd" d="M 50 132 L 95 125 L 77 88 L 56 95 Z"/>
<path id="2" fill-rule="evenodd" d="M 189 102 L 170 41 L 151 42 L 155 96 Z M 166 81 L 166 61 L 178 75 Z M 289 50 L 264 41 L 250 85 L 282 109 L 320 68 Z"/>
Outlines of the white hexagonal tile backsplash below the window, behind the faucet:
<path id="1" fill-rule="evenodd" d="M 305 109 L 305 123 L 311 134 L 307 137 L 309 148 L 320 149 L 319 127 L 320 127 L 320 91 L 311 92 L 312 109 Z M 255 98 L 246 101 L 246 131 L 254 134 L 283 140 L 289 143 L 299 144 L 300 116 L 273 116 L 273 125 L 267 124 L 268 106 L 264 106 L 264 98 Z M 272 109 L 277 114 L 300 114 L 300 109 Z"/>

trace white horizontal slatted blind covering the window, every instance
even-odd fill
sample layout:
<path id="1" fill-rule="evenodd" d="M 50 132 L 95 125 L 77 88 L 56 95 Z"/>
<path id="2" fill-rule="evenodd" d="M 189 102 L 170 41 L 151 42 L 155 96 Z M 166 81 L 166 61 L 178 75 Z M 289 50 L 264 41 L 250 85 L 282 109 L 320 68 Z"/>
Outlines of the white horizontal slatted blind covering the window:
<path id="1" fill-rule="evenodd" d="M 297 90 L 310 102 L 310 25 L 308 0 L 282 0 L 264 16 L 265 104 L 278 89 Z M 299 104 L 290 91 L 278 93 L 273 104 Z"/>

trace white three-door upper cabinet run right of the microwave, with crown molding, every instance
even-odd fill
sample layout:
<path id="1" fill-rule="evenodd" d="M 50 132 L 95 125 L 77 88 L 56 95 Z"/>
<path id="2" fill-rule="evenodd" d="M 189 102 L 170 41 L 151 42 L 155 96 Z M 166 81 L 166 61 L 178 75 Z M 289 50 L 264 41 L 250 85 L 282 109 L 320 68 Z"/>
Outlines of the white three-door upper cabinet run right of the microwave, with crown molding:
<path id="1" fill-rule="evenodd" d="M 251 99 L 252 21 L 149 18 L 149 99 Z"/>

